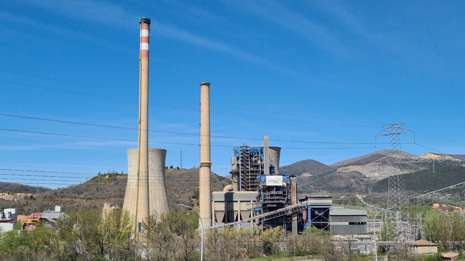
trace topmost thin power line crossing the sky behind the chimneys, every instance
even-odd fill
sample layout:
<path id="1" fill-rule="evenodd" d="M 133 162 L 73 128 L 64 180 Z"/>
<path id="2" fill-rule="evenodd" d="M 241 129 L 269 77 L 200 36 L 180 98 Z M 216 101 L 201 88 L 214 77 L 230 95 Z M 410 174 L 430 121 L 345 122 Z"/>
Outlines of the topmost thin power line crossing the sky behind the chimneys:
<path id="1" fill-rule="evenodd" d="M 125 90 L 114 89 L 114 88 L 108 88 L 108 87 L 102 87 L 102 86 L 97 86 L 97 85 L 88 85 L 88 84 L 82 84 L 82 83 L 77 83 L 77 82 L 72 82 L 72 81 L 66 81 L 66 80 L 60 80 L 60 79 L 55 79 L 55 78 L 47 78 L 47 77 L 42 77 L 42 76 L 37 76 L 37 75 L 32 75 L 32 74 L 26 74 L 26 73 L 21 73 L 21 72 L 12 72 L 12 71 L 7 71 L 7 70 L 0 70 L 0 71 L 1 71 L 1 72 L 8 72 L 8 73 L 14 73 L 14 74 L 19 74 L 19 75 L 24 75 L 24 76 L 30 76 L 30 77 L 35 77 L 35 78 L 53 80 L 53 81 L 58 81 L 58 82 L 63 82 L 63 83 L 68 83 L 68 84 L 75 84 L 75 85 L 82 85 L 82 86 L 88 86 L 88 87 L 93 87 L 93 88 L 100 88 L 100 89 L 111 90 L 111 91 L 121 91 L 121 92 L 126 92 L 126 93 L 139 94 L 138 92 L 135 92 L 135 91 L 125 91 Z M 191 100 L 185 100 L 185 99 L 179 99 L 179 98 L 164 97 L 164 96 L 150 95 L 150 94 L 149 94 L 149 96 L 157 97 L 157 98 L 164 98 L 164 99 L 171 99 L 171 100 L 184 101 L 184 102 L 198 103 L 198 101 L 191 101 Z M 359 120 L 348 120 L 348 119 L 338 119 L 338 118 L 328 118 L 328 117 L 317 117 L 317 116 L 300 115 L 300 114 L 292 114 L 292 113 L 283 113 L 283 112 L 276 112 L 276 111 L 262 111 L 262 110 L 256 110 L 256 109 L 250 109 L 250 108 L 240 108 L 240 107 L 227 106 L 227 105 L 222 105 L 222 104 L 210 104 L 210 105 L 219 106 L 219 107 L 225 107 L 225 108 L 231 108 L 231 109 L 239 109 L 239 110 L 246 110 L 246 111 L 257 111 L 257 112 L 273 113 L 273 114 L 287 115 L 287 116 L 309 117 L 309 118 L 318 118 L 318 119 L 326 119 L 326 120 L 338 120 L 338 121 L 361 122 L 361 123 L 373 123 L 373 124 L 385 124 L 385 123 L 379 123 L 379 122 L 369 122 L 369 121 L 359 121 Z"/>

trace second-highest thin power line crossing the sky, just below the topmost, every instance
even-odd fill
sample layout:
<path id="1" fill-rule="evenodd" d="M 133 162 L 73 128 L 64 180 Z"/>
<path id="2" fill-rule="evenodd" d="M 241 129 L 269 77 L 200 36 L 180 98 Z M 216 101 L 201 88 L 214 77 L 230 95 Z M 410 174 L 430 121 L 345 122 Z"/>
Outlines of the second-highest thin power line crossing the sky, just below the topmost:
<path id="1" fill-rule="evenodd" d="M 4 80 L 0 80 L 0 82 L 10 83 L 10 84 L 16 84 L 16 85 L 23 85 L 23 86 L 29 86 L 29 87 L 35 87 L 35 88 L 42 88 L 42 89 L 53 90 L 53 91 L 63 91 L 63 92 L 68 92 L 68 93 L 73 93 L 73 94 L 80 94 L 80 95 L 86 95 L 86 96 L 97 97 L 97 98 L 108 98 L 108 99 L 114 99 L 114 100 L 120 100 L 120 101 L 128 101 L 128 102 L 139 103 L 139 101 L 128 100 L 128 99 L 122 99 L 122 98 L 107 97 L 107 96 L 89 94 L 89 93 L 84 93 L 84 92 L 67 91 L 67 90 L 55 89 L 55 88 L 44 87 L 44 86 L 37 86 L 37 85 L 28 85 L 28 84 L 15 83 L 15 82 L 4 81 Z M 176 109 L 191 110 L 191 111 L 200 111 L 199 109 L 192 109 L 192 108 L 185 108 L 185 107 L 177 107 L 177 106 L 170 106 L 170 105 L 164 105 L 164 104 L 154 104 L 154 103 L 148 103 L 148 104 L 152 104 L 152 105 L 156 105 L 156 106 L 163 106 L 163 107 L 168 107 L 168 108 L 176 108 Z M 252 116 L 252 115 L 240 115 L 240 114 L 226 113 L 226 112 L 218 112 L 218 111 L 210 111 L 210 112 L 211 112 L 211 113 L 224 114 L 224 115 L 231 115 L 231 116 L 250 117 L 250 118 L 268 119 L 268 120 L 278 120 L 278 121 L 286 121 L 286 122 L 322 124 L 322 125 L 333 125 L 333 126 L 347 126 L 347 127 L 362 127 L 362 128 L 381 128 L 381 127 L 379 127 L 379 126 L 363 126 L 363 125 L 350 125 L 350 124 L 321 123 L 321 122 L 299 121 L 299 120 L 291 120 L 291 119 L 278 119 L 278 118 L 270 118 L 270 117 L 259 117 L 259 116 Z"/>

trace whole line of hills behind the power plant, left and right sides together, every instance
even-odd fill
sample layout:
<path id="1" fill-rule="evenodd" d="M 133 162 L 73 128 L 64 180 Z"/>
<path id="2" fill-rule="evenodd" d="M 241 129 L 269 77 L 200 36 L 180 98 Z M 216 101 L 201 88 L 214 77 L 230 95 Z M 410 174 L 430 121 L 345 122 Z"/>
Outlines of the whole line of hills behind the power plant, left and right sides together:
<path id="1" fill-rule="evenodd" d="M 297 176 L 300 195 L 309 193 L 350 193 L 367 194 L 387 192 L 387 176 L 392 167 L 369 166 L 372 161 L 385 156 L 389 150 L 376 150 L 371 153 L 339 161 L 330 165 L 307 159 L 279 167 L 281 174 Z M 404 155 L 416 156 L 407 152 Z M 421 156 L 434 160 L 434 172 L 431 163 L 422 163 L 414 169 L 404 168 L 406 189 L 419 195 L 450 185 L 465 182 L 465 155 L 426 153 Z M 405 166 L 403 166 L 405 167 Z M 398 172 L 399 173 L 399 172 Z M 115 182 L 112 185 L 112 175 Z M 198 201 L 198 169 L 166 170 L 166 190 L 170 206 L 182 203 L 195 206 Z M 212 172 L 212 191 L 221 191 L 228 183 L 227 177 Z M 89 181 L 66 188 L 48 189 L 0 183 L 0 209 L 17 208 L 20 214 L 30 214 L 55 205 L 66 209 L 101 208 L 104 202 L 122 205 L 127 175 L 104 173 Z M 453 200 L 465 200 L 462 189 L 453 190 Z M 452 193 L 451 192 L 451 193 Z M 19 193 L 19 194 L 17 194 Z M 461 193 L 461 194 L 460 194 Z"/>

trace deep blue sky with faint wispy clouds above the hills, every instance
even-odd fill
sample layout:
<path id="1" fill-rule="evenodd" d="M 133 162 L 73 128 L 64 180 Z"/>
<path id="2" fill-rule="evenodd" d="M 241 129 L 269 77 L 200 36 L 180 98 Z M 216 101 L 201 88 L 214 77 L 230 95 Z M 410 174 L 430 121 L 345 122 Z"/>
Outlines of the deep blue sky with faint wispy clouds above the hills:
<path id="1" fill-rule="evenodd" d="M 273 140 L 373 143 L 392 123 L 416 131 L 418 144 L 403 150 L 465 154 L 464 7 L 460 1 L 7 1 L 0 10 L 0 113 L 137 128 L 138 19 L 148 16 L 150 130 L 198 134 L 199 83 L 208 81 L 211 134 L 269 135 L 270 145 L 286 148 L 281 165 L 331 164 L 376 149 Z M 1 129 L 137 139 L 134 130 L 7 116 L 0 123 Z M 168 150 L 166 165 L 179 166 L 181 149 L 183 167 L 198 165 L 198 146 L 179 145 L 198 144 L 198 136 L 151 132 L 149 139 L 178 143 L 150 145 Z M 212 147 L 212 170 L 225 175 L 233 155 L 228 146 L 243 143 L 261 141 L 213 137 L 221 146 Z M 126 150 L 135 146 L 0 131 L 0 165 L 126 172 Z M 352 147 L 369 148 L 311 149 Z M 21 182 L 37 183 L 25 177 L 31 180 Z"/>

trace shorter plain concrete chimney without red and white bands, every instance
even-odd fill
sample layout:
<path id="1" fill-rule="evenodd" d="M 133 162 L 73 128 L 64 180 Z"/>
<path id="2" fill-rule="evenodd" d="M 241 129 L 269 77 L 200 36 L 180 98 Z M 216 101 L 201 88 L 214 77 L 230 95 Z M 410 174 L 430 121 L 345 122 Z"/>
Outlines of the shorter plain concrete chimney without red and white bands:
<path id="1" fill-rule="evenodd" d="M 199 207 L 204 227 L 212 226 L 212 188 L 210 180 L 210 83 L 200 83 L 200 162 Z"/>

